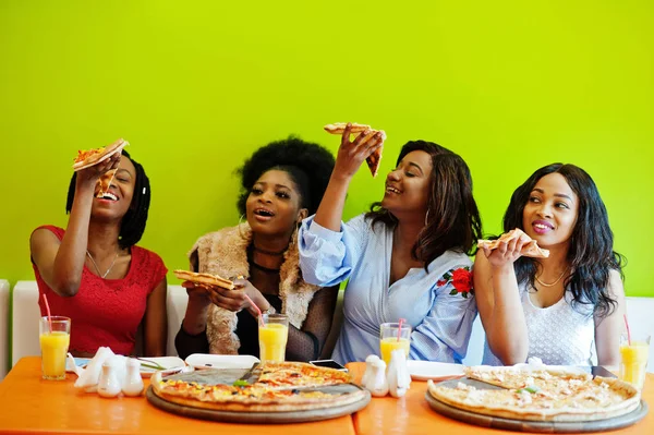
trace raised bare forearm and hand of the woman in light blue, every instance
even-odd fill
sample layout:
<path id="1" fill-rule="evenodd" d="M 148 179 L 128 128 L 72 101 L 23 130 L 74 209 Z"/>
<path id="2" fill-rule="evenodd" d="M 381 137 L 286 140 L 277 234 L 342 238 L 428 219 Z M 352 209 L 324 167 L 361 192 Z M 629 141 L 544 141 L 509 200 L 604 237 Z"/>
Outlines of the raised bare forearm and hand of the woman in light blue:
<path id="1" fill-rule="evenodd" d="M 348 123 L 343 132 L 329 184 L 314 219 L 316 223 L 331 231 L 340 231 L 343 206 L 352 177 L 363 160 L 382 146 L 383 141 L 383 134 L 379 132 L 363 132 L 351 142 L 351 126 L 352 124 Z"/>

